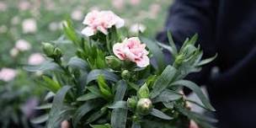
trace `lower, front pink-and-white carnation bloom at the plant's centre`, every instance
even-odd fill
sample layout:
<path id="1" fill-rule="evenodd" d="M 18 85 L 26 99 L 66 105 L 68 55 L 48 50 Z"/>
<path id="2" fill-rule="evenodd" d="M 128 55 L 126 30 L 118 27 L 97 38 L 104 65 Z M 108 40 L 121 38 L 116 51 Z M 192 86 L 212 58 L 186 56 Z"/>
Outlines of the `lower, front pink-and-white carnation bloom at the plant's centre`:
<path id="1" fill-rule="evenodd" d="M 138 67 L 147 67 L 149 65 L 148 51 L 146 45 L 141 44 L 137 37 L 125 39 L 122 43 L 116 43 L 113 46 L 115 56 L 120 60 L 129 60 L 136 62 Z"/>

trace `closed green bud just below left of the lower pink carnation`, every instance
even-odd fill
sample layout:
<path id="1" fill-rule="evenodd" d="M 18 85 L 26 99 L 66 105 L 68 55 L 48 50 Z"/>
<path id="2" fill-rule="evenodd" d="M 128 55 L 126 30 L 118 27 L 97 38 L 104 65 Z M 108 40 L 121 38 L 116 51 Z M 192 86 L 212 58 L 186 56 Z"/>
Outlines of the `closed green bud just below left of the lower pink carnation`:
<path id="1" fill-rule="evenodd" d="M 109 67 L 118 70 L 121 67 L 121 61 L 115 56 L 106 56 L 105 57 L 106 63 L 109 65 Z"/>

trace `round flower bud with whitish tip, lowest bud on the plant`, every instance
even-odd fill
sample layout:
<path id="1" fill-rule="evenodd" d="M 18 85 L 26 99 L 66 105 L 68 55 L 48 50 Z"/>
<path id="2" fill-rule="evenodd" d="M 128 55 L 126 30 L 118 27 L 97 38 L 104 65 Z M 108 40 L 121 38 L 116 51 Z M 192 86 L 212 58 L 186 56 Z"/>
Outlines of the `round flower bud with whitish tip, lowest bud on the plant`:
<path id="1" fill-rule="evenodd" d="M 150 99 L 140 99 L 137 103 L 136 111 L 141 115 L 147 115 L 152 108 L 152 101 Z"/>

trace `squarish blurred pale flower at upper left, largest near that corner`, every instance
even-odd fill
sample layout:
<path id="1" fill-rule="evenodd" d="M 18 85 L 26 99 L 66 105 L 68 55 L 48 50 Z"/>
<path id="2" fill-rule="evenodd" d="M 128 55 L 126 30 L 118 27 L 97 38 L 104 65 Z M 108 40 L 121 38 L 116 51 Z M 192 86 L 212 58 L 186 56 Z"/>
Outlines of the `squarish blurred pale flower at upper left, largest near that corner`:
<path id="1" fill-rule="evenodd" d="M 22 23 L 22 29 L 25 34 L 35 33 L 35 31 L 37 30 L 35 19 L 24 19 Z"/>

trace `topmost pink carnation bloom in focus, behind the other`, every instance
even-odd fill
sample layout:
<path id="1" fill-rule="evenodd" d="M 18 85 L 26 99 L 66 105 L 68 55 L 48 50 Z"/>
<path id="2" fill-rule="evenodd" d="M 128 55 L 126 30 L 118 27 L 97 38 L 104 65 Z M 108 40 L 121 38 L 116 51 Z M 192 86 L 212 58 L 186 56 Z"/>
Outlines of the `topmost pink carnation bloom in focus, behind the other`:
<path id="1" fill-rule="evenodd" d="M 87 27 L 82 30 L 82 34 L 86 36 L 95 35 L 99 30 L 108 35 L 108 29 L 115 25 L 116 28 L 124 26 L 124 19 L 120 19 L 115 13 L 111 11 L 96 11 L 88 13 L 83 20 L 83 24 Z"/>

